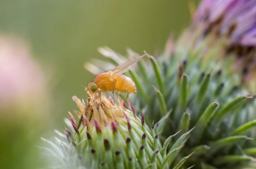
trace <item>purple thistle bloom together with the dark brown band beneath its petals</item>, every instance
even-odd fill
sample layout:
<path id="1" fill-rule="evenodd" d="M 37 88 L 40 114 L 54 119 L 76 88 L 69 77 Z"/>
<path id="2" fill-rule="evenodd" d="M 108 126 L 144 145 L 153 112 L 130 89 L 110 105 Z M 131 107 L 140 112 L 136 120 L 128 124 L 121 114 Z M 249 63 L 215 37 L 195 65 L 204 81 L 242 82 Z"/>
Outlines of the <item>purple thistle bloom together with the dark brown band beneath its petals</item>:
<path id="1" fill-rule="evenodd" d="M 210 36 L 223 45 L 222 56 L 236 56 L 234 70 L 243 75 L 243 84 L 256 81 L 256 0 L 202 0 L 193 18 L 194 32 L 202 32 L 195 44 Z"/>

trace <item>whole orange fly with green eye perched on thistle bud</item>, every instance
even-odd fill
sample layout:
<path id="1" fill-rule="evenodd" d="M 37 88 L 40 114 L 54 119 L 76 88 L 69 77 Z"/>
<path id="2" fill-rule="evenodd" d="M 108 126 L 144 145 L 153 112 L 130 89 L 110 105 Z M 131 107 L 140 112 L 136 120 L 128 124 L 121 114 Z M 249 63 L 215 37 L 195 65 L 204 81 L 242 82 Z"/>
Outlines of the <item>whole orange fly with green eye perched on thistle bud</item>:
<path id="1" fill-rule="evenodd" d="M 129 93 L 136 93 L 136 86 L 131 78 L 123 75 L 125 73 L 125 68 L 128 68 L 131 65 L 139 62 L 143 59 L 144 56 L 148 54 L 144 54 L 142 56 L 136 57 L 134 59 L 128 60 L 127 62 L 113 68 L 111 70 L 105 71 L 103 73 L 99 73 L 93 82 L 90 82 L 88 87 L 85 90 L 91 90 L 92 92 L 96 92 L 96 90 L 102 91 L 119 91 L 121 93 L 127 93 L 127 98 Z"/>

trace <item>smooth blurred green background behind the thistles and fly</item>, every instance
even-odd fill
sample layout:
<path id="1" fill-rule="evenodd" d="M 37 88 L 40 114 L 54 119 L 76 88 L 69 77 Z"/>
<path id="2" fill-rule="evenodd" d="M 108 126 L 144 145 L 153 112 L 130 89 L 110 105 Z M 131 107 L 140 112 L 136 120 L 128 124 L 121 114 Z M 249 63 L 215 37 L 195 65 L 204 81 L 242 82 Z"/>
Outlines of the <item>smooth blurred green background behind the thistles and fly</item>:
<path id="1" fill-rule="evenodd" d="M 44 166 L 39 164 L 40 149 L 35 145 L 40 144 L 40 136 L 52 136 L 55 128 L 63 131 L 67 111 L 76 109 L 72 96 L 86 98 L 80 85 L 86 86 L 93 75 L 83 68 L 84 62 L 102 58 L 97 48 L 105 45 L 121 54 L 127 47 L 140 54 L 144 50 L 151 54 L 161 51 L 170 33 L 179 34 L 189 24 L 188 2 L 1 0 L 0 34 L 17 36 L 29 44 L 32 57 L 47 74 L 50 89 L 45 101 L 49 103 L 41 101 L 42 113 L 46 115 L 39 121 L 43 122 L 33 123 L 34 116 L 29 116 L 29 123 L 19 124 L 21 131 L 15 129 L 12 121 L 2 123 L 1 168 Z M 19 113 L 19 109 L 15 111 Z M 26 111 L 34 113 L 33 109 Z"/>

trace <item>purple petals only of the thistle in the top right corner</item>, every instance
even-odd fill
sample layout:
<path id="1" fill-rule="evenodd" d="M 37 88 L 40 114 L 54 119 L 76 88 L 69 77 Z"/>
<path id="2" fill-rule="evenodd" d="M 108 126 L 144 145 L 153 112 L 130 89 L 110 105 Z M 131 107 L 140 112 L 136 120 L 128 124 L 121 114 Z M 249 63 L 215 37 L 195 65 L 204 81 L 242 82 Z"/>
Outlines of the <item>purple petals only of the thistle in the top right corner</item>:
<path id="1" fill-rule="evenodd" d="M 203 0 L 194 21 L 208 31 L 217 28 L 231 44 L 256 45 L 255 0 Z"/>

